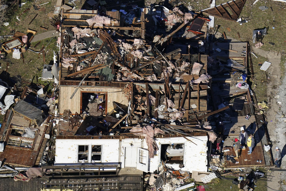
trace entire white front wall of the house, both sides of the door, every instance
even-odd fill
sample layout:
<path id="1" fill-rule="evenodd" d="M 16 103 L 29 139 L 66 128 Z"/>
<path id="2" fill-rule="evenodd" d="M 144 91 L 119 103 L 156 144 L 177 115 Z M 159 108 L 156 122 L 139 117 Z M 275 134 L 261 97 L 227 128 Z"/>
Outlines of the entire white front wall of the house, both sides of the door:
<path id="1" fill-rule="evenodd" d="M 184 144 L 184 168 L 181 170 L 192 172 L 207 171 L 207 136 L 198 136 L 196 138 L 187 137 L 192 142 L 183 137 L 158 138 L 155 139 L 158 151 L 154 158 L 149 159 L 149 172 L 154 172 L 161 164 L 161 144 Z M 57 139 L 55 165 L 76 165 L 80 164 L 78 160 L 78 145 L 102 145 L 102 161 L 101 163 L 121 162 L 121 168 L 125 167 L 125 148 L 133 144 L 134 148 L 148 148 L 146 140 L 141 139 L 123 139 L 119 148 L 119 139 Z M 142 146 L 143 144 L 143 146 Z M 120 158 L 120 160 L 119 160 Z M 166 164 L 167 167 L 172 167 L 179 170 L 179 164 Z"/>

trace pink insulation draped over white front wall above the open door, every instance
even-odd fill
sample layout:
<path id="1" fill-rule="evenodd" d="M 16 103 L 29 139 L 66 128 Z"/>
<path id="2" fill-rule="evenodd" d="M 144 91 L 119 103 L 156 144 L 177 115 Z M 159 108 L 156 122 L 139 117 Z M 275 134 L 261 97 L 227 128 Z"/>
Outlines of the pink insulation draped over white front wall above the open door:
<path id="1" fill-rule="evenodd" d="M 154 158 L 154 151 L 158 150 L 158 146 L 156 145 L 154 141 L 154 135 L 155 134 L 165 134 L 162 130 L 159 128 L 153 128 L 154 124 L 144 126 L 143 128 L 140 127 L 134 127 L 130 129 L 130 132 L 137 132 L 134 133 L 135 135 L 144 136 L 146 139 L 146 143 L 148 146 L 149 151 L 149 158 Z"/>

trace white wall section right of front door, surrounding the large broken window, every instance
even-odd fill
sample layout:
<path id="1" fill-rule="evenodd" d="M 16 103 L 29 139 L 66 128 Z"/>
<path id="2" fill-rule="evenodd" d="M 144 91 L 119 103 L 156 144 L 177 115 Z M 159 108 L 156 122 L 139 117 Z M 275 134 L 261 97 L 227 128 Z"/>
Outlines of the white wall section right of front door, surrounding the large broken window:
<path id="1" fill-rule="evenodd" d="M 161 161 L 161 144 L 179 144 L 184 143 L 184 168 L 181 170 L 189 171 L 192 173 L 195 171 L 207 171 L 207 146 L 206 142 L 208 140 L 207 136 L 198 136 L 196 138 L 187 137 L 192 142 L 186 140 L 183 137 L 172 137 L 172 138 L 158 138 L 156 139 L 156 144 L 158 146 L 158 151 L 156 152 L 154 158 L 150 159 L 150 172 L 154 172 L 160 166 Z M 144 148 L 148 148 L 146 142 L 144 141 Z M 179 170 L 179 164 L 166 164 L 167 167 L 172 167 Z"/>

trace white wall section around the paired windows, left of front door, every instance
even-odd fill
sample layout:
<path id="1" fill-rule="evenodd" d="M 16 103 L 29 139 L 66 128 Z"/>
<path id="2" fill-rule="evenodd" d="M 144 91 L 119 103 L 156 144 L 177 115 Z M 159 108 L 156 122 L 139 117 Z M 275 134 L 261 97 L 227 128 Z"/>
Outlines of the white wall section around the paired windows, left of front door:
<path id="1" fill-rule="evenodd" d="M 78 145 L 102 145 L 101 163 L 119 162 L 119 139 L 57 139 L 55 165 L 78 164 Z"/>

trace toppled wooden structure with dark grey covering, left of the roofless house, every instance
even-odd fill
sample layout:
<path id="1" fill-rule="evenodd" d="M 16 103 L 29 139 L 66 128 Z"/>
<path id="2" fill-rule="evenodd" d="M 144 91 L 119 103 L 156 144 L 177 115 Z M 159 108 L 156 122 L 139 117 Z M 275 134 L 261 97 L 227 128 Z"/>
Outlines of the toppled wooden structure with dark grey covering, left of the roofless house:
<path id="1" fill-rule="evenodd" d="M 12 166 L 32 167 L 39 164 L 45 134 L 49 134 L 46 114 L 35 106 L 19 100 L 8 110 L 1 128 L 1 141 L 6 143 L 0 158 Z M 27 160 L 29 159 L 29 160 Z"/>

